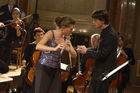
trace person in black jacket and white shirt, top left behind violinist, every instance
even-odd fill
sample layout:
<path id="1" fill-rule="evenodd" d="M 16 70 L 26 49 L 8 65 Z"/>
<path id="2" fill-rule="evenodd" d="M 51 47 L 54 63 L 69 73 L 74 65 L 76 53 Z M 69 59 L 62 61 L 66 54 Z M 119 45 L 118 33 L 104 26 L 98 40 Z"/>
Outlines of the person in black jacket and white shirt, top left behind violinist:
<path id="1" fill-rule="evenodd" d="M 8 0 L 8 4 L 1 6 L 0 13 L 2 13 L 2 15 L 0 15 L 0 21 L 5 22 L 7 20 L 12 20 L 11 12 L 15 7 L 17 7 L 15 5 L 15 0 Z"/>

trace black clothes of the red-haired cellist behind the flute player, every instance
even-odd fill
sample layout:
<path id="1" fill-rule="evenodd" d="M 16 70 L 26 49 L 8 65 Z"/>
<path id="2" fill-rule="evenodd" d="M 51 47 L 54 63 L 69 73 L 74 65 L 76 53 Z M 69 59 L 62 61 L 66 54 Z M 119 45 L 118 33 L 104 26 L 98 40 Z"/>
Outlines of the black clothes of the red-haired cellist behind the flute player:
<path id="1" fill-rule="evenodd" d="M 32 87 L 27 84 L 25 79 L 27 77 L 28 71 L 32 67 L 31 57 L 35 51 L 35 46 L 36 46 L 35 43 L 29 43 L 25 48 L 22 60 L 26 60 L 27 66 L 25 70 L 21 71 L 22 73 L 20 75 L 20 79 L 18 82 L 17 93 L 21 93 L 21 91 L 23 93 L 32 93 Z"/>

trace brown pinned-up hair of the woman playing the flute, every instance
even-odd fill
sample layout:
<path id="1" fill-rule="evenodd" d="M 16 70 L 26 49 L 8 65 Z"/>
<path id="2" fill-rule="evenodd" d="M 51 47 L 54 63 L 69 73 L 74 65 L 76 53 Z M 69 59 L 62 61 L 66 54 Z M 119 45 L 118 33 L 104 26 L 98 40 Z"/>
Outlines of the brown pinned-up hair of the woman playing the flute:
<path id="1" fill-rule="evenodd" d="M 63 16 L 55 18 L 56 25 L 61 28 L 62 26 L 70 27 L 70 25 L 75 25 L 75 21 L 71 17 Z"/>

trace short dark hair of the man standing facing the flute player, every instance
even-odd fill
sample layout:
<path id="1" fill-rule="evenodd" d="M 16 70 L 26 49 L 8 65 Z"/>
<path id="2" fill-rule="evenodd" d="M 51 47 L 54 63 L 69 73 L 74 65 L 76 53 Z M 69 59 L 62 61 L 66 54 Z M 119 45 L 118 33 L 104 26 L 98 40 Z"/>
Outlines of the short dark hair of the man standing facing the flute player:
<path id="1" fill-rule="evenodd" d="M 96 10 L 92 13 L 93 19 L 104 21 L 104 24 L 109 24 L 109 15 L 106 10 Z"/>

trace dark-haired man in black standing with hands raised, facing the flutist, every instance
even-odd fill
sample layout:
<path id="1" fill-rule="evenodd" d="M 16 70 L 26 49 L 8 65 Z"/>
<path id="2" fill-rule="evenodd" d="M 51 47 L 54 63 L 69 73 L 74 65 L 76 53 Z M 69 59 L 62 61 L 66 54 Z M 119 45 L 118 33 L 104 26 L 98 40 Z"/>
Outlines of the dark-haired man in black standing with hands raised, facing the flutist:
<path id="1" fill-rule="evenodd" d="M 88 58 L 94 58 L 93 74 L 88 93 L 108 93 L 109 85 L 115 76 L 102 81 L 102 75 L 107 74 L 116 68 L 117 62 L 117 34 L 113 27 L 109 25 L 109 16 L 105 10 L 98 10 L 92 14 L 93 24 L 100 28 L 101 35 L 99 47 L 86 48 L 78 46 L 77 51 L 85 54 Z"/>

